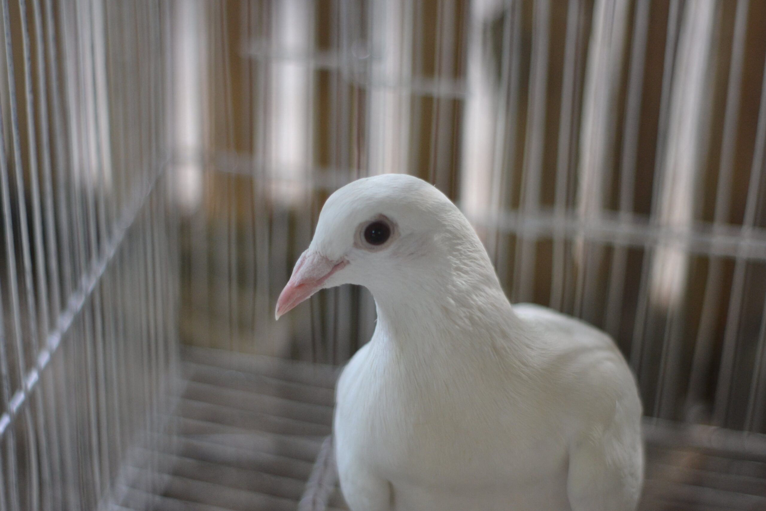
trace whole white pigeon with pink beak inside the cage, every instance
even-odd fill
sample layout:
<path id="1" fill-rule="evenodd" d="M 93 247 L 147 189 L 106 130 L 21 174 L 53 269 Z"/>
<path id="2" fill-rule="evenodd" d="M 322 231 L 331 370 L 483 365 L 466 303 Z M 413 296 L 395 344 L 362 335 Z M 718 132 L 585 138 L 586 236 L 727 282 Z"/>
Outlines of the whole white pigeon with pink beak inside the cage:
<path id="1" fill-rule="evenodd" d="M 607 334 L 511 306 L 471 225 L 408 175 L 333 193 L 277 302 L 375 297 L 340 376 L 333 435 L 352 511 L 628 511 L 643 484 L 642 407 Z"/>

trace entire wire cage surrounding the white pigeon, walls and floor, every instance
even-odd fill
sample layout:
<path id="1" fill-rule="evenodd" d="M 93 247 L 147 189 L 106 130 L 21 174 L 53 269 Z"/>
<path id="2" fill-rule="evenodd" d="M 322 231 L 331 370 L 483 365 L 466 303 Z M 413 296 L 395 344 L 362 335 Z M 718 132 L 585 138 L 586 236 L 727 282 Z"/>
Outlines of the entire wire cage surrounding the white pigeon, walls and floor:
<path id="1" fill-rule="evenodd" d="M 748 0 L 2 0 L 0 510 L 296 509 L 375 306 L 274 306 L 323 201 L 381 172 L 456 201 L 512 302 L 614 336 L 640 509 L 766 509 L 764 26 Z"/>

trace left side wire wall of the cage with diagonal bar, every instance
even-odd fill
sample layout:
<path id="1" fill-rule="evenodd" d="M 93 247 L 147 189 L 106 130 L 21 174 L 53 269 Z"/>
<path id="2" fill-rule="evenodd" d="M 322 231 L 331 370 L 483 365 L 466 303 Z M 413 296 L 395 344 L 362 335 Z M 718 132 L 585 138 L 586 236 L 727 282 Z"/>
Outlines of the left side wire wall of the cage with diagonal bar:
<path id="1" fill-rule="evenodd" d="M 177 371 L 168 5 L 2 2 L 0 509 L 96 509 Z"/>

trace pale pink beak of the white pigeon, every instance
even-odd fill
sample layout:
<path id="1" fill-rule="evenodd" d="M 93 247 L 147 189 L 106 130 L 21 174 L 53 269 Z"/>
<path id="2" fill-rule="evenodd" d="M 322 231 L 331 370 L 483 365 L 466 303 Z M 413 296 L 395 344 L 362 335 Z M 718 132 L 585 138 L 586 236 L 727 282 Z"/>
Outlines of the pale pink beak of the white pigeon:
<path id="1" fill-rule="evenodd" d="M 293 268 L 293 275 L 277 300 L 277 319 L 322 289 L 322 284 L 330 275 L 341 270 L 346 264 L 349 264 L 349 261 L 329 260 L 311 249 L 303 252 Z"/>

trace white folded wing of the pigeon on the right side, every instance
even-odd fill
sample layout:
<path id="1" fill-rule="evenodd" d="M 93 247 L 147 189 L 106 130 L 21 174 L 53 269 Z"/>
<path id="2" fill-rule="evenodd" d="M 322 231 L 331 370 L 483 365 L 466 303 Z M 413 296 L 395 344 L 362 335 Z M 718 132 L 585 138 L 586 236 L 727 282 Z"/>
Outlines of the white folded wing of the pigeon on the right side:
<path id="1" fill-rule="evenodd" d="M 567 494 L 572 511 L 633 511 L 643 483 L 641 404 L 635 380 L 614 341 L 547 307 L 515 305 L 545 333 L 570 375 L 568 391 L 587 415 L 568 448 Z"/>

